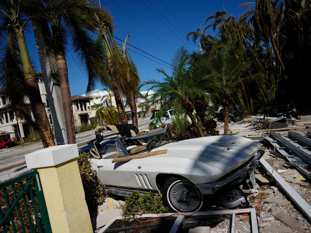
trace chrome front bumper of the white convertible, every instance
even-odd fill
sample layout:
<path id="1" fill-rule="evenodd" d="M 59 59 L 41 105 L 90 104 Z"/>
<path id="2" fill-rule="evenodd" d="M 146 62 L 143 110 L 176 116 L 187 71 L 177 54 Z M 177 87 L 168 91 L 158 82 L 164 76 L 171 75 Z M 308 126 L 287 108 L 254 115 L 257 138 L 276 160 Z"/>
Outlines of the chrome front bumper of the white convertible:
<path id="1" fill-rule="evenodd" d="M 258 166 L 259 159 L 264 153 L 264 150 L 259 150 L 246 167 L 240 168 L 239 170 L 231 173 L 229 176 L 226 176 L 221 180 L 217 180 L 213 183 L 198 184 L 196 187 L 201 191 L 202 194 L 214 194 L 215 189 L 217 190 L 228 183 L 231 183 L 231 185 L 239 184 L 242 182 L 242 180 L 244 180 L 246 175 L 248 175 Z"/>

